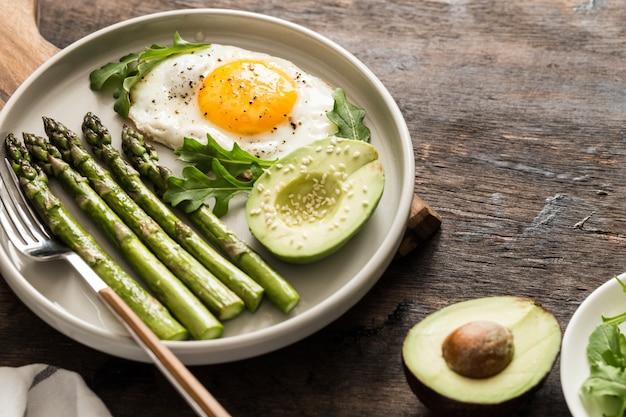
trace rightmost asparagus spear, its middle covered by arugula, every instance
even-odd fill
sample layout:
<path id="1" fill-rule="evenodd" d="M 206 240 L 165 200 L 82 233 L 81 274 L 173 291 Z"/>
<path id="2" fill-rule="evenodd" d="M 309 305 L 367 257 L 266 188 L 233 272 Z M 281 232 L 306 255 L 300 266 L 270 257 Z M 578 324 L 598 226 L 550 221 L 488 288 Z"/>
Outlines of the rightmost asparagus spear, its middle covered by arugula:
<path id="1" fill-rule="evenodd" d="M 167 189 L 168 178 L 174 174 L 158 163 L 159 157 L 154 147 L 139 132 L 126 128 L 122 135 L 122 148 L 130 163 L 141 175 L 152 181 L 157 192 L 162 195 Z M 182 202 L 180 206 L 186 213 L 185 204 Z M 267 297 L 279 309 L 288 313 L 298 304 L 300 296 L 296 290 L 217 218 L 210 208 L 203 205 L 186 214 L 211 243 L 265 289 Z"/>

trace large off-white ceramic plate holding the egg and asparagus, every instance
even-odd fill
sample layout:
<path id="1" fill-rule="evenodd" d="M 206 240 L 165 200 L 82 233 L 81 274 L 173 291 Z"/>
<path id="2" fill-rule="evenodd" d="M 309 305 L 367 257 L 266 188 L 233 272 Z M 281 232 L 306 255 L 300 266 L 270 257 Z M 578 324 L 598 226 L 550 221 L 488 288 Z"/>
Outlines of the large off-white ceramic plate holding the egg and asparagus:
<path id="1" fill-rule="evenodd" d="M 80 132 L 83 116 L 92 111 L 117 140 L 123 121 L 113 112 L 110 97 L 89 89 L 89 73 L 153 43 L 170 45 L 176 31 L 189 41 L 236 45 L 289 59 L 331 85 L 342 87 L 351 102 L 367 111 L 372 144 L 379 150 L 386 172 L 386 188 L 374 216 L 336 256 L 307 267 L 286 265 L 267 257 L 301 295 L 301 303 L 292 313 L 283 315 L 264 302 L 255 314 L 244 313 L 227 322 L 224 337 L 219 340 L 167 342 L 187 364 L 249 358 L 284 347 L 329 324 L 361 299 L 383 274 L 399 245 L 409 215 L 414 184 L 411 140 L 388 91 L 363 63 L 343 48 L 283 20 L 221 9 L 148 15 L 113 25 L 72 44 L 29 77 L 6 104 L 0 114 L 2 138 L 9 131 L 18 136 L 23 131 L 43 135 L 42 116 L 52 117 Z M 159 149 L 163 162 L 180 168 L 171 151 Z M 243 207 L 243 201 L 239 203 Z M 84 220 L 80 213 L 75 214 Z M 232 210 L 225 220 L 265 255 L 250 236 L 242 209 Z M 85 224 L 98 234 L 92 225 Z M 147 361 L 72 269 L 63 262 L 27 261 L 2 237 L 2 275 L 37 315 L 92 348 Z"/>

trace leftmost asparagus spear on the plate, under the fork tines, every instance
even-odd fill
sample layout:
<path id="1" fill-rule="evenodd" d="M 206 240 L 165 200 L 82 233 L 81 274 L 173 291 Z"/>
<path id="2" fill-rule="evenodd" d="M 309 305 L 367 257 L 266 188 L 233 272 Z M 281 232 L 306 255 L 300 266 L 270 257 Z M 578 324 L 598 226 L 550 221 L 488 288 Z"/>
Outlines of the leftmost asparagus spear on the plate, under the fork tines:
<path id="1" fill-rule="evenodd" d="M 50 190 L 48 176 L 41 167 L 30 163 L 28 150 L 12 133 L 7 136 L 5 147 L 24 194 L 52 234 L 83 258 L 160 339 L 187 339 L 187 329 L 128 275 L 72 217 L 65 205 Z"/>

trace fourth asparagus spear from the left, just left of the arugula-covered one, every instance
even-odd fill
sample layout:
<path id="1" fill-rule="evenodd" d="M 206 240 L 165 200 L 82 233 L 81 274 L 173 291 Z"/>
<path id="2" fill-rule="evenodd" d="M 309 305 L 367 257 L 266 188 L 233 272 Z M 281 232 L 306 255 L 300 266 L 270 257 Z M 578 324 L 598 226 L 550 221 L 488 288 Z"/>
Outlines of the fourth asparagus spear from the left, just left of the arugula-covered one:
<path id="1" fill-rule="evenodd" d="M 125 127 L 126 128 L 126 127 Z M 139 173 L 112 146 L 111 134 L 93 113 L 87 113 L 83 134 L 94 154 L 109 168 L 116 182 L 165 232 L 191 253 L 209 271 L 237 294 L 250 311 L 256 311 L 263 299 L 263 288 L 241 269 L 224 258 L 189 225 L 182 222 L 143 182 Z"/>

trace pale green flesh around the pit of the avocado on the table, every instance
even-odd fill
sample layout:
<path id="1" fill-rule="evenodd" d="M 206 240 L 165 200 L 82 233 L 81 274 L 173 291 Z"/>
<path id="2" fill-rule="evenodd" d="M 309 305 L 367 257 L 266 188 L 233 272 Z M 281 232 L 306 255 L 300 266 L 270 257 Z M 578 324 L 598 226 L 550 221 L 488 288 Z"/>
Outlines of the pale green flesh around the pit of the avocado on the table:
<path id="1" fill-rule="evenodd" d="M 487 378 L 457 374 L 442 355 L 445 338 L 475 321 L 499 323 L 513 334 L 513 359 L 504 370 Z M 486 297 L 450 305 L 416 324 L 404 341 L 402 359 L 415 382 L 434 391 L 442 398 L 440 401 L 492 405 L 518 398 L 539 386 L 552 369 L 560 346 L 557 320 L 534 301 Z"/>

